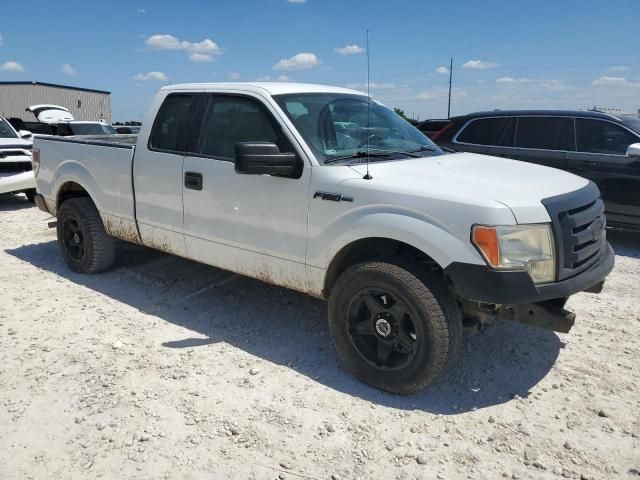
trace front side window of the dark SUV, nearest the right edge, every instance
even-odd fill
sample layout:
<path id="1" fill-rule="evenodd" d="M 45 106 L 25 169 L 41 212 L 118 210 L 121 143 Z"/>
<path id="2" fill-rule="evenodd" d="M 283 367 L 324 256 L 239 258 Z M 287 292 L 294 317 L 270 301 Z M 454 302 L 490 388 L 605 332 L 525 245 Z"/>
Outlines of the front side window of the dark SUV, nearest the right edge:
<path id="1" fill-rule="evenodd" d="M 579 152 L 624 155 L 627 147 L 638 142 L 628 130 L 611 122 L 576 118 L 576 144 Z"/>

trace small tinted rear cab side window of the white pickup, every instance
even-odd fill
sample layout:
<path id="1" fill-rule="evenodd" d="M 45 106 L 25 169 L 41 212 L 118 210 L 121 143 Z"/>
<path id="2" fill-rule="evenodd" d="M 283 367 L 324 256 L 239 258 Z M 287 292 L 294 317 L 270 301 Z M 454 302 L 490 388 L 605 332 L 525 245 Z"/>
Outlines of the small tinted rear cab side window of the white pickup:
<path id="1" fill-rule="evenodd" d="M 180 134 L 187 128 L 192 94 L 172 94 L 165 98 L 153 124 L 149 146 L 154 150 L 180 151 Z"/>

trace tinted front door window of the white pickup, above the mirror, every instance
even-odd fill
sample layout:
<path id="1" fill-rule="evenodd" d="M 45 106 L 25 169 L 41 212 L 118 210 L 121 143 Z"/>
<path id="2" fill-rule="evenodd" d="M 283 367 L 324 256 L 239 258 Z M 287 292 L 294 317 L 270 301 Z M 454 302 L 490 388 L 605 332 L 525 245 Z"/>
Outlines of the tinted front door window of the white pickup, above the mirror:
<path id="1" fill-rule="evenodd" d="M 278 145 L 281 152 L 292 151 L 260 102 L 240 96 L 212 97 L 204 113 L 198 152 L 233 159 L 239 142 L 270 142 Z"/>

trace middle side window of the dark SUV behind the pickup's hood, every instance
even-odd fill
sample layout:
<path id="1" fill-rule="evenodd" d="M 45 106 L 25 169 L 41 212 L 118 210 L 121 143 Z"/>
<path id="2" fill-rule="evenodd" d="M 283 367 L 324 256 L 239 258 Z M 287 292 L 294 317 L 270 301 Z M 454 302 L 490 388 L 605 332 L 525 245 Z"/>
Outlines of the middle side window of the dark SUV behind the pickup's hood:
<path id="1" fill-rule="evenodd" d="M 519 117 L 516 147 L 567 150 L 570 126 L 565 117 Z"/>

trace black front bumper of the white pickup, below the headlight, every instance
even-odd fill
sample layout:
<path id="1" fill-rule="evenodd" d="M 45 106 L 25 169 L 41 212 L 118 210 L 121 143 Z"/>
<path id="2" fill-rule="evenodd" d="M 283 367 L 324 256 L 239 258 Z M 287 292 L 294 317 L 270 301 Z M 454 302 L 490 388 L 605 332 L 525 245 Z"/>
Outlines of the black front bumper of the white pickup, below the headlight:
<path id="1" fill-rule="evenodd" d="M 615 253 L 609 243 L 591 267 L 565 280 L 536 285 L 527 272 L 492 270 L 486 265 L 454 262 L 445 268 L 460 297 L 483 303 L 520 305 L 566 298 L 574 293 L 600 291 L 614 265 Z"/>

